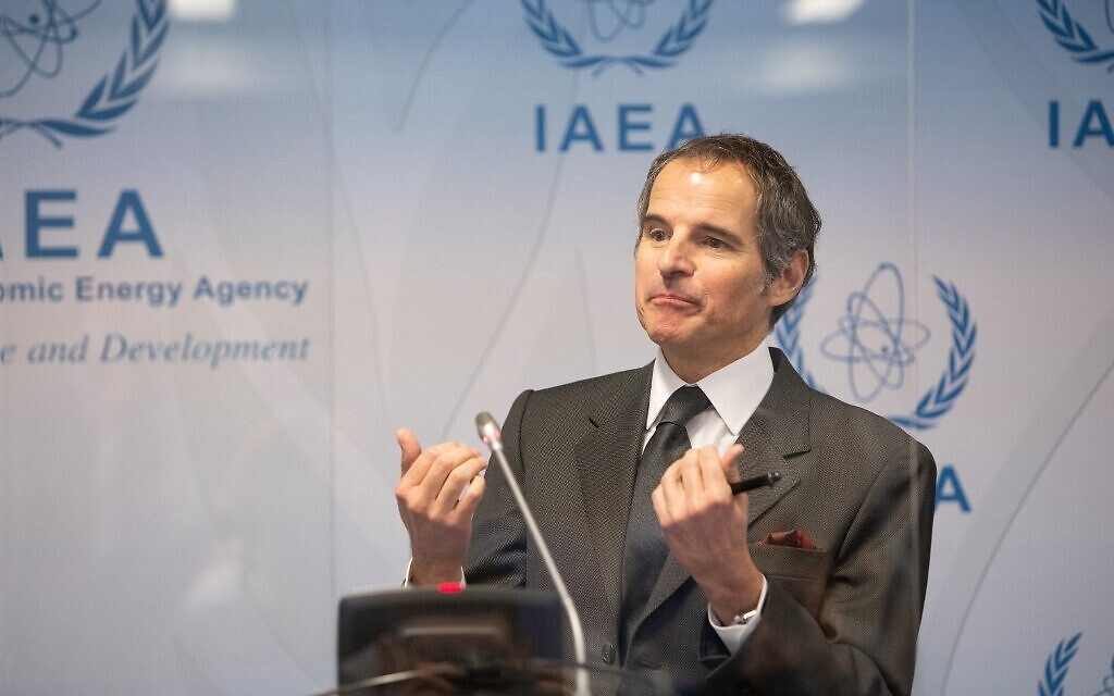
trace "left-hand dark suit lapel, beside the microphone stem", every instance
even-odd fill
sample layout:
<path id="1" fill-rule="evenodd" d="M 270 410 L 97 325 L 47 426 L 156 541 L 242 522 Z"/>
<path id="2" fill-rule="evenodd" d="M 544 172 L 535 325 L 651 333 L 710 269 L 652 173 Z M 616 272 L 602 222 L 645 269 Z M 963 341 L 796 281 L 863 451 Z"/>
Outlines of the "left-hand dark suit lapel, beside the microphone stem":
<path id="1" fill-rule="evenodd" d="M 584 508 L 604 590 L 617 618 L 623 592 L 623 551 L 649 408 L 653 363 L 632 373 L 589 416 L 595 430 L 576 444 Z"/>

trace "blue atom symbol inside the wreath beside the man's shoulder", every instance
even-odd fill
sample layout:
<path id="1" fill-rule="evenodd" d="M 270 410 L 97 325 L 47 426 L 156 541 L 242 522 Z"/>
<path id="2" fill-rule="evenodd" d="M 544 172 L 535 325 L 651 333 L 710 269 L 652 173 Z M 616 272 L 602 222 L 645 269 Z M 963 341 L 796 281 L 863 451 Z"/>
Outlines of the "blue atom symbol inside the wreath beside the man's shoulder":
<path id="1" fill-rule="evenodd" d="M 892 301 L 889 311 L 880 306 L 886 300 Z M 846 311 L 820 351 L 847 363 L 848 382 L 861 402 L 873 400 L 883 389 L 899 389 L 906 367 L 931 334 L 920 322 L 906 318 L 905 287 L 897 266 L 879 264 L 863 288 L 848 296 Z"/>

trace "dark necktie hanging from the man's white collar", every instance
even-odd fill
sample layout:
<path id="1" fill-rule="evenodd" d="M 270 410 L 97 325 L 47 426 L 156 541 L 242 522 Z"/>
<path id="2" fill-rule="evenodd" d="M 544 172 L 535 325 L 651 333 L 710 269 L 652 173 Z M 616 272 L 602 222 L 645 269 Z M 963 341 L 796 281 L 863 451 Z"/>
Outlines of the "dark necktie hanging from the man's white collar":
<path id="1" fill-rule="evenodd" d="M 633 637 L 631 631 L 649 599 L 649 592 L 670 552 L 649 494 L 657 488 L 670 464 L 681 459 L 692 447 L 685 423 L 710 403 L 698 386 L 682 386 L 673 392 L 662 409 L 657 429 L 646 443 L 638 462 L 623 558 L 622 620 L 625 634 L 620 644 L 624 648 Z"/>

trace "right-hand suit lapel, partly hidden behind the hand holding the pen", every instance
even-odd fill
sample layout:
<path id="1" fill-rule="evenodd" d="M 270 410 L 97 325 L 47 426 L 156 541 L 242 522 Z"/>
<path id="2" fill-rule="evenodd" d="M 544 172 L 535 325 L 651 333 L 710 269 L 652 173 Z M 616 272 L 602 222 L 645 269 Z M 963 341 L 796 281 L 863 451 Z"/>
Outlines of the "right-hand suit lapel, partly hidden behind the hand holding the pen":
<path id="1" fill-rule="evenodd" d="M 742 478 L 776 471 L 781 473 L 781 480 L 772 488 L 761 488 L 747 493 L 750 497 L 747 525 L 753 525 L 798 484 L 801 477 L 797 462 L 786 457 L 810 449 L 809 388 L 781 351 L 771 349 L 771 354 L 774 363 L 773 383 L 758 410 L 743 425 L 736 442 L 745 448 L 739 462 Z M 638 623 L 641 624 L 657 609 L 687 579 L 688 571 L 673 553 L 670 553 Z"/>

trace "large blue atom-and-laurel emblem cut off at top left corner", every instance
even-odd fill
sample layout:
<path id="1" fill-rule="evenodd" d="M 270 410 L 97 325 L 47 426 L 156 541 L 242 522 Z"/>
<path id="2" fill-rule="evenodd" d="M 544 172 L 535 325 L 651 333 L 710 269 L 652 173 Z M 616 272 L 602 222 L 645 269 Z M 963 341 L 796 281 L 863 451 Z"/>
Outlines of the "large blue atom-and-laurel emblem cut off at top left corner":
<path id="1" fill-rule="evenodd" d="M 4 2 L 0 8 L 0 100 L 29 85 L 65 72 L 67 53 L 81 39 L 81 23 L 101 0 Z M 16 7 L 21 4 L 22 7 Z M 167 0 L 135 0 L 128 42 L 116 66 L 84 91 L 80 104 L 61 116 L 9 117 L 0 101 L 0 141 L 19 131 L 37 133 L 57 147 L 63 137 L 91 137 L 113 130 L 136 105 L 158 65 L 169 26 Z M 59 82 L 60 84 L 60 82 Z"/>

